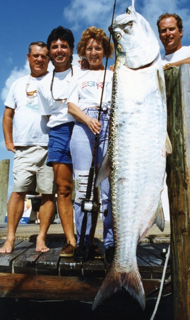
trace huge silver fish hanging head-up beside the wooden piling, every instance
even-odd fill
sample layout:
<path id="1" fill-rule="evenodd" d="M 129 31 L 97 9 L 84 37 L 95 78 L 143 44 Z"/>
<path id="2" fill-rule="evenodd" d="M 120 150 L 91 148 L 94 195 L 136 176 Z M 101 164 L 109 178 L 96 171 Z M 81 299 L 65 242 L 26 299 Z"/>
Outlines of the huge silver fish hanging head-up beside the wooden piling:
<path id="1" fill-rule="evenodd" d="M 164 73 L 157 38 L 134 7 L 113 21 L 112 36 L 116 62 L 109 144 L 96 186 L 110 177 L 115 254 L 92 309 L 122 287 L 144 309 L 137 243 L 154 223 L 164 230 L 160 200 L 167 138 Z"/>

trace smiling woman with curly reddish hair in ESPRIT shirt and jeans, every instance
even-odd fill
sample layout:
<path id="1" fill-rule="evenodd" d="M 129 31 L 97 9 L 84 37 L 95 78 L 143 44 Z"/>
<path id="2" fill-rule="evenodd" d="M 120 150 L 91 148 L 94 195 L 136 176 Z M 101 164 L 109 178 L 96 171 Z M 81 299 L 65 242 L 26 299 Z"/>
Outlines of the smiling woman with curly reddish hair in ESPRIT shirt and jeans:
<path id="1" fill-rule="evenodd" d="M 88 70 L 81 70 L 72 77 L 69 84 L 68 112 L 76 119 L 73 129 L 70 149 L 75 175 L 75 222 L 77 228 L 77 249 L 74 253 L 75 261 L 86 261 L 88 258 L 102 258 L 98 248 L 90 246 L 91 213 L 87 215 L 87 228 L 84 246 L 78 247 L 81 233 L 81 225 L 84 212 L 81 211 L 81 202 L 85 199 L 89 169 L 92 162 L 95 134 L 98 133 L 95 164 L 100 166 L 107 150 L 109 114 L 112 93 L 113 72 L 106 70 L 106 79 L 101 105 L 100 121 L 98 111 L 102 94 L 102 85 L 105 69 L 103 58 L 111 57 L 113 44 L 102 29 L 90 27 L 84 30 L 80 42 L 77 44 L 77 53 L 81 58 L 87 58 Z M 111 217 L 111 200 L 109 181 L 105 179 L 100 185 L 100 195 L 103 212 L 107 209 L 104 222 L 104 244 L 106 248 L 106 260 L 111 262 L 114 252 L 113 229 Z M 93 197 L 93 187 L 91 198 Z M 93 213 L 92 213 L 93 214 Z M 89 251 L 90 250 L 90 251 Z M 96 256 L 97 253 L 97 256 Z"/>

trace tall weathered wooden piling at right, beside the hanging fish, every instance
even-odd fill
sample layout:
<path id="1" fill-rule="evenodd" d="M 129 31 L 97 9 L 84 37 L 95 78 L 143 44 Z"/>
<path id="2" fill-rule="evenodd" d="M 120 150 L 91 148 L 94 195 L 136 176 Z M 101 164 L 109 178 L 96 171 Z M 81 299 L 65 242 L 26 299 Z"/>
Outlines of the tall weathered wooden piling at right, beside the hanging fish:
<path id="1" fill-rule="evenodd" d="M 190 65 L 165 70 L 174 320 L 190 319 Z"/>

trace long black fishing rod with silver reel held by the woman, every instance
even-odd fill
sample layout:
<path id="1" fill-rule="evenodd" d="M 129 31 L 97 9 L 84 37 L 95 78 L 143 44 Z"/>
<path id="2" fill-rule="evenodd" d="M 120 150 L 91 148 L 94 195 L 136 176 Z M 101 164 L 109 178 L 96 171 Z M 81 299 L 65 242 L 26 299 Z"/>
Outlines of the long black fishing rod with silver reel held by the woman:
<path id="1" fill-rule="evenodd" d="M 111 30 L 112 30 L 112 26 L 113 26 L 113 17 L 114 17 L 115 7 L 116 7 L 116 0 L 114 1 L 114 5 L 113 5 Z M 101 116 L 101 108 L 102 108 L 102 100 L 103 100 L 103 93 L 104 93 L 104 86 L 105 86 L 105 79 L 106 79 L 106 68 L 107 68 L 107 62 L 108 62 L 108 56 L 109 56 L 110 42 L 111 42 L 111 32 L 110 32 L 110 36 L 109 36 L 108 49 L 107 49 L 107 53 L 106 53 L 106 65 L 105 65 L 102 93 L 101 93 L 101 99 L 100 99 L 100 105 L 99 105 L 99 111 L 98 111 L 98 121 L 100 120 L 100 116 Z M 95 155 L 96 155 L 96 149 L 97 149 L 97 142 L 98 142 L 98 133 L 96 133 L 95 139 L 94 139 L 94 148 L 93 148 L 93 152 L 92 152 L 92 162 L 91 162 L 91 167 L 89 170 L 88 183 L 87 183 L 87 188 L 86 188 L 86 198 L 81 203 L 81 211 L 84 212 L 84 216 L 83 216 L 83 221 L 82 221 L 82 226 L 81 226 L 79 250 L 82 250 L 83 245 L 84 245 L 86 226 L 87 226 L 87 213 L 88 212 L 94 213 L 97 210 L 97 206 L 98 206 L 96 201 L 90 200 L 91 192 L 92 192 L 93 177 L 94 177 L 94 162 L 95 162 Z M 105 216 L 107 215 L 107 209 L 105 210 L 104 215 Z"/>

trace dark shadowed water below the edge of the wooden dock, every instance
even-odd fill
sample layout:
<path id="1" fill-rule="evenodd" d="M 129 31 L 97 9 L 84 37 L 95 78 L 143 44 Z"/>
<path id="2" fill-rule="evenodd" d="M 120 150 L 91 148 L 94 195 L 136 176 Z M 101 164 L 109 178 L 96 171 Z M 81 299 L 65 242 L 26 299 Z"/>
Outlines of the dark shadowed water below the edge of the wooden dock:
<path id="1" fill-rule="evenodd" d="M 33 301 L 25 299 L 0 298 L 1 320 L 149 320 L 152 316 L 156 300 L 147 300 L 146 308 L 142 311 L 128 297 L 127 304 L 123 299 L 104 302 L 95 311 L 91 311 L 91 303 L 76 301 Z M 160 300 L 155 320 L 172 320 L 172 295 Z"/>

